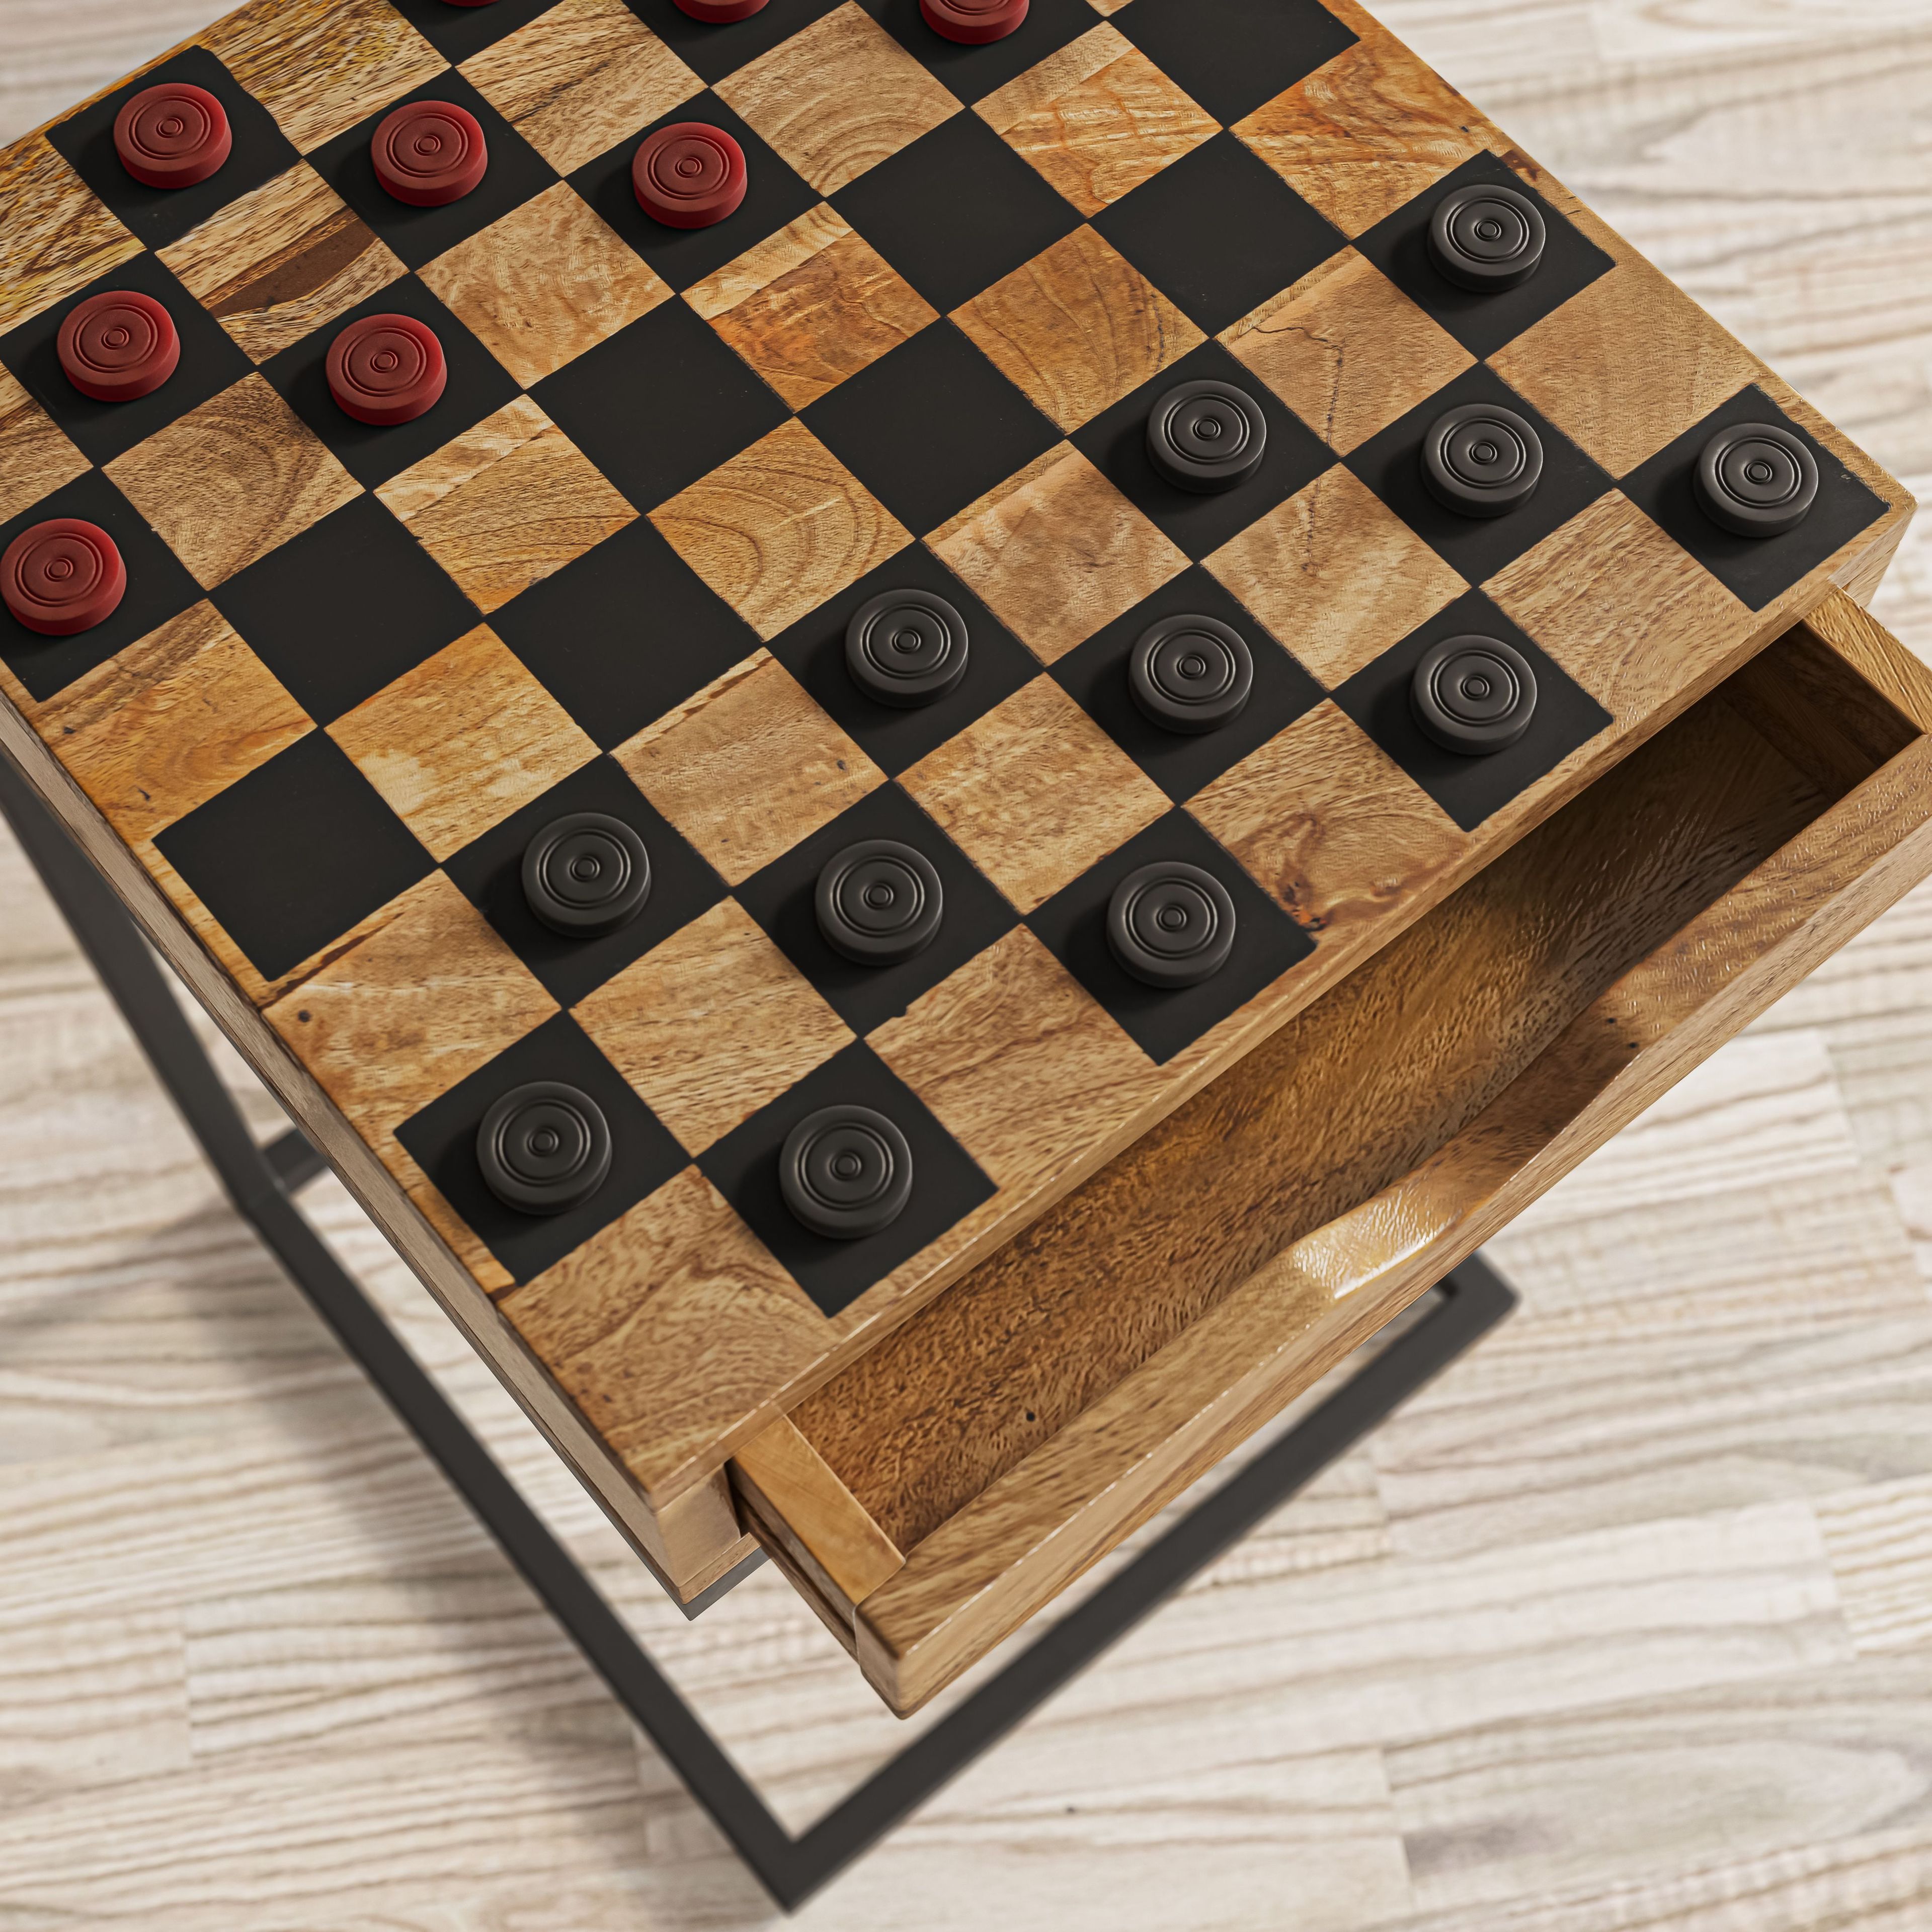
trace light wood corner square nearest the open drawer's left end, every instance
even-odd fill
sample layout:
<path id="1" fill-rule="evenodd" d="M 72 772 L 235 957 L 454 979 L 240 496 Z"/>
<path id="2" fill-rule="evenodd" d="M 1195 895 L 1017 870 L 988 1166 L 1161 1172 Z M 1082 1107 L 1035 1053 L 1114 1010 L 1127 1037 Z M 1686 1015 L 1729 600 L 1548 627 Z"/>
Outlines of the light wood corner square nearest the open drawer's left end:
<path id="1" fill-rule="evenodd" d="M 696 1457 L 738 1447 L 827 1343 L 825 1316 L 696 1167 L 498 1306 L 653 1501 Z"/>

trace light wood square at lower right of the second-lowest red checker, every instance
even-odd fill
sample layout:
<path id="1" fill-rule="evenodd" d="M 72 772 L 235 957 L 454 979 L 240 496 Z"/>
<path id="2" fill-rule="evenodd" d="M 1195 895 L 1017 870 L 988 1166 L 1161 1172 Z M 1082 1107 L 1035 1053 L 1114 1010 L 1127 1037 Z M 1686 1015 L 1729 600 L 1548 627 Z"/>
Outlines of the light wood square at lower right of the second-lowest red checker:
<path id="1" fill-rule="evenodd" d="M 404 469 L 377 497 L 485 614 L 638 520 L 527 396 Z"/>

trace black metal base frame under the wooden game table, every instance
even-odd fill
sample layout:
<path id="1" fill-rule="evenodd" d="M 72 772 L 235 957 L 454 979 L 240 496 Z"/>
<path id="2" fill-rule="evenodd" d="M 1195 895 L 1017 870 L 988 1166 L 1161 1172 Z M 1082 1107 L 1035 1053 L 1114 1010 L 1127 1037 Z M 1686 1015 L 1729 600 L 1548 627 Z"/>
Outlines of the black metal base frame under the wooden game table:
<path id="1" fill-rule="evenodd" d="M 255 1142 L 131 914 L 6 755 L 0 755 L 0 813 L 12 823 L 236 1209 L 786 1911 L 885 1837 L 1310 1478 L 1352 1449 L 1517 1304 L 1511 1289 L 1480 1258 L 1464 1262 L 1439 1285 L 1437 1306 L 1383 1347 L 1335 1395 L 804 1835 L 792 1837 L 303 1219 L 294 1194 L 323 1171 L 323 1155 L 299 1128 L 290 1128 L 269 1146 Z M 742 1565 L 723 1578 L 688 1605 L 688 1613 L 696 1615 L 715 1602 L 750 1567 Z"/>

